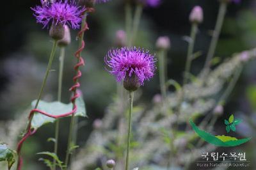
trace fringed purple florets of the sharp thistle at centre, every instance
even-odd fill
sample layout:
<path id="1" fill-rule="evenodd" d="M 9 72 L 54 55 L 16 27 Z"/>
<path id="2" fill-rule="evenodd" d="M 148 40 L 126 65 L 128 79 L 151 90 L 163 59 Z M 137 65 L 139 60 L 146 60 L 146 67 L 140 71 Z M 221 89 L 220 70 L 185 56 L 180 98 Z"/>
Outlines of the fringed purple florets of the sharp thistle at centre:
<path id="1" fill-rule="evenodd" d="M 124 80 L 125 75 L 131 77 L 134 74 L 141 85 L 153 77 L 156 70 L 155 62 L 156 59 L 148 51 L 136 47 L 109 50 L 105 58 L 105 63 L 111 68 L 109 72 L 115 75 L 116 81 L 120 82 Z"/>

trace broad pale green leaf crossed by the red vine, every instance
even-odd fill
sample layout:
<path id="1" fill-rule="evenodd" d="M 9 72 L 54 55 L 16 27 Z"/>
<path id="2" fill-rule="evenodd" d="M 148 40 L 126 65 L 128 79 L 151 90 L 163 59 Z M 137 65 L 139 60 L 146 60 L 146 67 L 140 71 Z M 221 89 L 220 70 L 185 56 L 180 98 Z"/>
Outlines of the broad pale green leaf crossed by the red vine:
<path id="1" fill-rule="evenodd" d="M 32 102 L 31 104 L 32 108 L 35 107 L 35 104 L 36 104 L 36 100 Z M 77 105 L 77 112 L 75 116 L 86 117 L 86 109 L 85 109 L 83 98 L 81 97 L 77 98 L 76 105 Z M 49 114 L 60 115 L 60 114 L 72 111 L 72 103 L 63 104 L 61 102 L 44 102 L 40 100 L 37 108 L 42 111 L 48 112 Z M 40 113 L 35 113 L 35 115 L 33 116 L 33 120 L 31 122 L 31 128 L 37 129 L 42 127 L 42 125 L 46 123 L 53 123 L 54 121 L 55 121 L 54 118 L 50 118 Z"/>

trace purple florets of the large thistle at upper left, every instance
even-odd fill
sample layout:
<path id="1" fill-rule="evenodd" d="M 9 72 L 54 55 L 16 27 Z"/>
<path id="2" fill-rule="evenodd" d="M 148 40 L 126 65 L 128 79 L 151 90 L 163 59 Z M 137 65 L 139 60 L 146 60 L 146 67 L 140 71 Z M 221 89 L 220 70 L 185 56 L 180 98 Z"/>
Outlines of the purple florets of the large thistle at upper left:
<path id="1" fill-rule="evenodd" d="M 55 1 L 54 3 L 44 3 L 41 0 L 42 6 L 31 8 L 35 13 L 36 22 L 43 24 L 44 27 L 49 24 L 69 25 L 73 29 L 80 26 L 82 13 L 84 8 L 77 6 L 75 1 Z"/>

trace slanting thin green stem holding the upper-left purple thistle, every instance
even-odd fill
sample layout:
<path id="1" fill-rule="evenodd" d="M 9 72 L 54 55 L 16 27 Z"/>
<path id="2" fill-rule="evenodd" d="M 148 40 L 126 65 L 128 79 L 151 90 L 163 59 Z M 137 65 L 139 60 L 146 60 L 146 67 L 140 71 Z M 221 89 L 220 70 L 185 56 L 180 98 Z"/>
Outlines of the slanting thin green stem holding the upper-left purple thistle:
<path id="1" fill-rule="evenodd" d="M 44 92 L 45 84 L 46 84 L 47 78 L 49 76 L 49 72 L 51 71 L 52 61 L 54 59 L 54 54 L 56 52 L 57 44 L 58 44 L 57 40 L 54 40 L 54 43 L 52 45 L 51 55 L 50 55 L 50 58 L 49 58 L 49 61 L 48 61 L 48 66 L 47 66 L 45 76 L 44 76 L 44 81 L 42 82 L 42 86 L 40 88 L 40 92 L 38 94 L 38 97 L 37 97 L 37 100 L 36 100 L 36 105 L 35 105 L 34 109 L 36 109 L 38 107 L 38 104 L 39 104 L 39 102 L 42 98 L 42 94 Z M 29 120 L 28 127 L 31 127 L 31 122 L 33 120 L 33 116 L 34 116 L 34 114 L 31 116 L 31 118 Z"/>

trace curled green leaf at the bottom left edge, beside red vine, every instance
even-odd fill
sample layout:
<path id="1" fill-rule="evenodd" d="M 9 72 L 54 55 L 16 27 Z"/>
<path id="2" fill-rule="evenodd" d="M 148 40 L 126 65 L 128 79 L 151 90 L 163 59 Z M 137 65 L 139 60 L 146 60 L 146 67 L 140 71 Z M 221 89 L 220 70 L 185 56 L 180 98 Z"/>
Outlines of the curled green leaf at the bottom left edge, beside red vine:
<path id="1" fill-rule="evenodd" d="M 7 144 L 0 143 L 0 162 L 7 161 L 8 169 L 11 169 L 12 165 L 15 162 L 16 151 L 8 148 Z"/>

